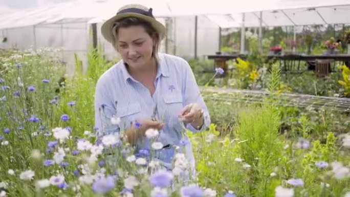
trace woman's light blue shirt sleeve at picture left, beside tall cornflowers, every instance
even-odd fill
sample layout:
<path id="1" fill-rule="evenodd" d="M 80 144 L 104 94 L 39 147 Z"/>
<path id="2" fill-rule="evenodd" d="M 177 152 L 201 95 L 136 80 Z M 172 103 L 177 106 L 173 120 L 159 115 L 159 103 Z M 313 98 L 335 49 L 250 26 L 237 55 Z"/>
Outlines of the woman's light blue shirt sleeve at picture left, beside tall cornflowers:
<path id="1" fill-rule="evenodd" d="M 111 118 L 116 115 L 116 108 L 106 87 L 99 80 L 95 90 L 95 127 L 96 140 L 105 135 L 119 133 L 119 126 L 112 124 Z"/>

